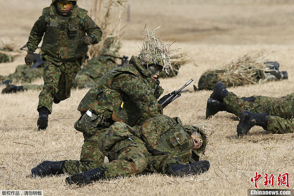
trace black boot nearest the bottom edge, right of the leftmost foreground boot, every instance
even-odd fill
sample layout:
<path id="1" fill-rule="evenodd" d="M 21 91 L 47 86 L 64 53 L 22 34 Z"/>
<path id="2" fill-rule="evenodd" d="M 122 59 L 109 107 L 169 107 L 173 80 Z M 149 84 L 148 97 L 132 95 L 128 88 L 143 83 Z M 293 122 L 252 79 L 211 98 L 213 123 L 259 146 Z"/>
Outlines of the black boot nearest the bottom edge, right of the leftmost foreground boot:
<path id="1" fill-rule="evenodd" d="M 67 178 L 65 178 L 65 182 L 69 185 L 77 184 L 89 184 L 91 181 L 99 180 L 103 178 L 104 171 L 100 168 L 94 168 L 92 170 L 89 170 L 87 172 L 77 173 L 73 174 Z"/>

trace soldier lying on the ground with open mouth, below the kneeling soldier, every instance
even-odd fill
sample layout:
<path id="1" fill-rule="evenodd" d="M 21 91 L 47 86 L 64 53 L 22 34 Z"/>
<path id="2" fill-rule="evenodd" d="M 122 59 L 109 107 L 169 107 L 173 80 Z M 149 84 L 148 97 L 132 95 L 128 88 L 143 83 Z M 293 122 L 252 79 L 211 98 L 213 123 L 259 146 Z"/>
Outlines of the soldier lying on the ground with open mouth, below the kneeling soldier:
<path id="1" fill-rule="evenodd" d="M 159 131 L 157 135 L 154 134 L 155 131 Z M 154 143 L 157 143 L 158 151 L 165 154 L 152 156 L 146 146 Z M 76 172 L 76 168 L 73 168 L 77 166 L 68 167 L 66 160 L 44 161 L 32 169 L 32 175 L 45 177 L 52 174 L 73 174 L 66 178 L 68 184 L 88 184 L 104 178 L 149 172 L 175 176 L 201 174 L 210 167 L 208 161 L 199 161 L 199 154 L 205 151 L 206 143 L 203 130 L 184 126 L 177 117 L 157 115 L 140 127 L 116 122 L 103 133 L 98 142 L 98 148 L 109 159 L 108 163 L 79 173 L 81 171 Z"/>

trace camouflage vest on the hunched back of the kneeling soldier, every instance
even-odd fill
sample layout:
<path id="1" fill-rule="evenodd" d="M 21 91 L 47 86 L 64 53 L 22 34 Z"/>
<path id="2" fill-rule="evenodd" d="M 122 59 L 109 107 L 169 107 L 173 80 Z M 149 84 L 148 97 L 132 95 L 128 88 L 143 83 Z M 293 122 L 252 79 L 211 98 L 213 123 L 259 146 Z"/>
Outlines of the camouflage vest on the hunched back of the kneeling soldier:
<path id="1" fill-rule="evenodd" d="M 121 112 L 129 115 L 127 124 L 132 126 L 142 115 L 140 109 L 128 96 L 111 87 L 114 77 L 122 73 L 135 75 L 150 87 L 150 78 L 143 77 L 134 65 L 120 66 L 99 79 L 81 100 L 77 110 L 83 114 L 90 109 L 98 115 L 104 112 L 107 112 L 107 115 L 111 115 L 113 111 Z"/>

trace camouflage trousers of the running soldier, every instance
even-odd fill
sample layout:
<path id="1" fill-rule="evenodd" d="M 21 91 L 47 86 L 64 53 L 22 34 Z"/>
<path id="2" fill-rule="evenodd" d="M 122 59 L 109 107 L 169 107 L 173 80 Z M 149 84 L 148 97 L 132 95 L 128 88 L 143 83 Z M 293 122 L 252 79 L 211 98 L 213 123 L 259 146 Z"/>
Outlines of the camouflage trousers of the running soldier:
<path id="1" fill-rule="evenodd" d="M 45 107 L 51 113 L 54 97 L 60 101 L 69 98 L 78 70 L 80 70 L 80 59 L 64 62 L 61 65 L 55 65 L 46 60 L 44 64 L 44 87 L 39 95 L 38 110 Z"/>

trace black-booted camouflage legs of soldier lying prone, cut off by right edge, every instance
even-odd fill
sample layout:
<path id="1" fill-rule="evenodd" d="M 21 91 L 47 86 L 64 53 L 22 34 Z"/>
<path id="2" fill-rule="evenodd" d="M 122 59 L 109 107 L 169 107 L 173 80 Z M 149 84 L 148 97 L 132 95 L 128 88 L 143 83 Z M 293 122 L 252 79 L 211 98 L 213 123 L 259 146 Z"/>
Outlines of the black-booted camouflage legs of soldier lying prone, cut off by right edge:
<path id="1" fill-rule="evenodd" d="M 252 96 L 239 98 L 228 92 L 224 85 L 216 84 L 207 100 L 206 118 L 218 111 L 227 111 L 239 116 L 238 135 L 245 135 L 257 125 L 275 133 L 294 132 L 294 93 L 284 97 Z M 252 113 L 253 112 L 253 113 Z"/>

